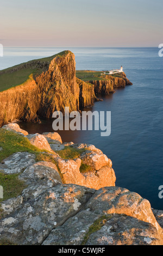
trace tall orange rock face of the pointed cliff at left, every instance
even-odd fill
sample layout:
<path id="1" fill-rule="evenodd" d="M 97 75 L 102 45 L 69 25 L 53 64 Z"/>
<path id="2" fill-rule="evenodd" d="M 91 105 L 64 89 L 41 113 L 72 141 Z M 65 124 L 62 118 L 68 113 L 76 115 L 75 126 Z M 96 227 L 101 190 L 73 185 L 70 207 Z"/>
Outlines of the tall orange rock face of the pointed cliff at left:
<path id="1" fill-rule="evenodd" d="M 95 101 L 93 86 L 76 78 L 72 52 L 65 51 L 49 63 L 34 60 L 4 73 L 32 67 L 39 69 L 39 74 L 31 74 L 22 85 L 0 93 L 0 125 L 17 118 L 24 121 L 52 118 L 54 111 L 64 112 L 65 106 L 70 107 L 70 111 L 78 111 L 80 106 L 92 105 Z"/>

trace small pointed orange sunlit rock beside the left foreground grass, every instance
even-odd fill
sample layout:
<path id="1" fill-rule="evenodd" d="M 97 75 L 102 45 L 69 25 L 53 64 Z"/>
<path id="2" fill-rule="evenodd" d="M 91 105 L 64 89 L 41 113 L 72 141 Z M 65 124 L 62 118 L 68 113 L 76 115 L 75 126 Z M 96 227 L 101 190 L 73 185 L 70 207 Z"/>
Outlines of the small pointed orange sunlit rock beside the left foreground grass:
<path id="1" fill-rule="evenodd" d="M 45 136 L 39 133 L 35 133 L 35 134 L 29 134 L 26 137 L 29 139 L 30 143 L 35 147 L 39 149 L 47 150 L 47 151 L 52 151 Z"/>

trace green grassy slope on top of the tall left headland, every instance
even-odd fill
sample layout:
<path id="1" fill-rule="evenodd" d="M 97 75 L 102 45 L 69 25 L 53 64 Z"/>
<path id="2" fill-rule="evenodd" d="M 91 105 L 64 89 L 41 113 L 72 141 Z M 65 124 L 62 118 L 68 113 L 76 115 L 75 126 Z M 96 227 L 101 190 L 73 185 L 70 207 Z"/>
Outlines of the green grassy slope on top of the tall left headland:
<path id="1" fill-rule="evenodd" d="M 67 51 L 63 51 L 60 53 L 57 53 L 51 57 L 46 57 L 46 58 L 41 58 L 41 59 L 36 59 L 37 61 L 40 62 L 48 62 L 50 63 L 52 59 L 54 59 L 57 56 L 64 56 L 67 53 Z M 4 69 L 0 71 L 0 92 L 3 92 L 4 90 L 7 90 L 11 87 L 18 86 L 20 84 L 23 84 L 26 82 L 29 78 L 30 75 L 36 75 L 36 74 L 41 74 L 42 70 L 36 69 L 35 66 L 33 68 L 22 68 L 24 64 L 33 64 L 36 60 L 30 60 L 27 63 L 21 63 L 16 66 L 12 66 L 11 68 Z M 14 69 L 21 69 L 18 71 L 12 71 Z"/>

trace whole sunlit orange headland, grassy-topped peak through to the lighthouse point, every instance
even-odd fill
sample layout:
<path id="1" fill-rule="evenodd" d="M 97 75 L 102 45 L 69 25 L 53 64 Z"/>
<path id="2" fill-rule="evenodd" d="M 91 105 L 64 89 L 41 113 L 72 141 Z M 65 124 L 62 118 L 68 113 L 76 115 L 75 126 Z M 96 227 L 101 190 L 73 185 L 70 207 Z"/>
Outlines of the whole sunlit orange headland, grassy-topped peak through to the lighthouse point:
<path id="1" fill-rule="evenodd" d="M 16 65 L 0 71 L 0 126 L 14 119 L 52 118 L 54 111 L 64 113 L 65 107 L 78 111 L 93 105 L 95 94 L 109 94 L 128 83 L 125 74 L 105 77 L 105 81 L 80 80 L 70 51 Z"/>

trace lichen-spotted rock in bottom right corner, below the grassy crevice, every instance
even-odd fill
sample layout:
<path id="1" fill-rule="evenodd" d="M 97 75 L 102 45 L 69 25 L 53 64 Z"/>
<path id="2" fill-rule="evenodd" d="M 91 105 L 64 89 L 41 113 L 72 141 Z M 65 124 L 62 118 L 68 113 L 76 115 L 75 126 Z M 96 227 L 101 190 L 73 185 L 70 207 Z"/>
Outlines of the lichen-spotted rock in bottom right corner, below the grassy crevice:
<path id="1" fill-rule="evenodd" d="M 162 241 L 152 224 L 115 214 L 89 236 L 86 245 L 161 245 Z"/>

